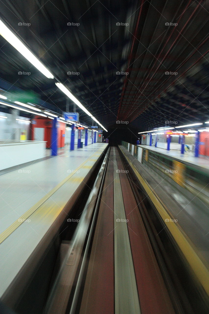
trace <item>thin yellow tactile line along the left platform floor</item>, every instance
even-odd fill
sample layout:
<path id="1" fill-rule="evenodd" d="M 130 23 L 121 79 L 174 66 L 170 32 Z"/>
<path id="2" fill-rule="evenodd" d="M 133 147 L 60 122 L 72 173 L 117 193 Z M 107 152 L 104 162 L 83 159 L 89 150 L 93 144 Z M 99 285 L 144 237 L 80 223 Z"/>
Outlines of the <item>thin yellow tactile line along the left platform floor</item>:
<path id="1" fill-rule="evenodd" d="M 50 198 L 62 185 L 67 182 L 79 169 L 82 168 L 83 165 L 85 165 L 91 158 L 97 154 L 101 149 L 97 150 L 93 155 L 91 155 L 87 160 L 85 160 L 78 168 L 75 169 L 75 172 L 71 173 L 69 176 L 67 176 L 64 180 L 62 180 L 56 187 L 54 187 L 50 192 L 48 192 L 43 198 L 41 198 L 35 205 L 33 205 L 31 208 L 29 208 L 22 216 L 20 216 L 17 220 L 13 222 L 12 225 L 10 225 L 6 230 L 4 230 L 0 234 L 0 244 L 11 235 L 11 233 L 16 230 L 19 225 L 21 225 L 24 220 L 28 219 L 28 217 L 33 214 L 48 198 Z M 101 154 L 100 154 L 101 155 Z M 100 156 L 99 155 L 99 156 Z M 95 159 L 96 161 L 97 159 Z M 22 221 L 19 221 L 22 220 Z"/>

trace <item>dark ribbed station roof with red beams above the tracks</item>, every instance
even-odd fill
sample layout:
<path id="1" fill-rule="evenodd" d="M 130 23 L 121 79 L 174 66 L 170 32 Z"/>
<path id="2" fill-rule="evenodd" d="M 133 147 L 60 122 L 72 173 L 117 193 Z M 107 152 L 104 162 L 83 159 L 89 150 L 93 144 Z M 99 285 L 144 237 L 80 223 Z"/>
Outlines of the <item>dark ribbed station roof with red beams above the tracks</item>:
<path id="1" fill-rule="evenodd" d="M 208 120 L 208 3 L 5 0 L 0 17 L 102 125 L 125 121 L 140 132 Z M 73 111 L 56 80 L 1 36 L 0 69 L 7 82 Z"/>

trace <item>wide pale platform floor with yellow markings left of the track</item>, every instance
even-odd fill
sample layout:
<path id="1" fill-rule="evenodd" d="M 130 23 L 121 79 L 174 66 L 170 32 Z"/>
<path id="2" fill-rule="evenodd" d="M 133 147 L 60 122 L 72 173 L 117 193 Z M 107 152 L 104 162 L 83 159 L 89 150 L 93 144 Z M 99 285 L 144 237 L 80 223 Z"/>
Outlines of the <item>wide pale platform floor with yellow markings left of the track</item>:
<path id="1" fill-rule="evenodd" d="M 1 297 L 26 261 L 29 263 L 30 260 L 32 269 L 35 256 L 32 253 L 36 246 L 42 241 L 44 250 L 46 235 L 52 232 L 50 227 L 59 224 L 64 215 L 67 216 L 66 204 L 69 210 L 107 145 L 94 143 L 74 151 L 63 149 L 60 150 L 62 154 L 55 157 L 2 172 Z"/>

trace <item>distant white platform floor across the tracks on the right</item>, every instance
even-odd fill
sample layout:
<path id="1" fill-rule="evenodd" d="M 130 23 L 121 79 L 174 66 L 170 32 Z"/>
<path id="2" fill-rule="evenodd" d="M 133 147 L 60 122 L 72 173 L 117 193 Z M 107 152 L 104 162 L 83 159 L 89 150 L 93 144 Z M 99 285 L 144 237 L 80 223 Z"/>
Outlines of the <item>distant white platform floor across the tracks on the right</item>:
<path id="1" fill-rule="evenodd" d="M 209 169 L 209 157 L 199 155 L 198 157 L 194 156 L 194 152 L 187 151 L 184 152 L 184 154 L 181 154 L 180 150 L 174 150 L 174 149 L 163 149 L 158 148 L 155 146 L 149 146 L 149 145 L 137 145 L 138 147 L 142 147 L 143 149 L 148 149 L 156 153 L 165 154 L 170 157 L 174 157 L 177 160 L 185 161 L 193 165 L 197 165 L 199 167 L 203 167 L 206 169 Z"/>

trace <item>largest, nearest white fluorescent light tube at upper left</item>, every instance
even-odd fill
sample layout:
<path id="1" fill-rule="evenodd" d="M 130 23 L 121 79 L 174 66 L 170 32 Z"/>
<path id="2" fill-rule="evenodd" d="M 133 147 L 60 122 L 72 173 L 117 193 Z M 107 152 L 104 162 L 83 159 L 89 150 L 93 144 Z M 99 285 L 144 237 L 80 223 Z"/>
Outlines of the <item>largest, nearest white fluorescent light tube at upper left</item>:
<path id="1" fill-rule="evenodd" d="M 0 35 L 4 37 L 17 51 L 19 51 L 35 68 L 43 73 L 47 78 L 54 78 L 54 76 L 47 70 L 47 68 L 29 51 L 29 49 L 13 34 L 11 30 L 0 20 Z"/>

